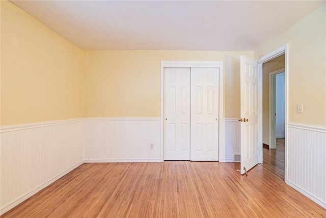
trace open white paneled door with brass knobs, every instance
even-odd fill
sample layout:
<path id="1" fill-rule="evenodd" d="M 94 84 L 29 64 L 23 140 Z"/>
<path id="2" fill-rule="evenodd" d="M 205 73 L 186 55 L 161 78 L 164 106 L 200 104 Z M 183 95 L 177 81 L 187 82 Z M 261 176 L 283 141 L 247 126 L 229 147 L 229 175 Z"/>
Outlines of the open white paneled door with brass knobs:
<path id="1" fill-rule="evenodd" d="M 258 163 L 258 64 L 240 57 L 241 174 Z M 242 119 L 242 120 L 241 120 Z"/>

